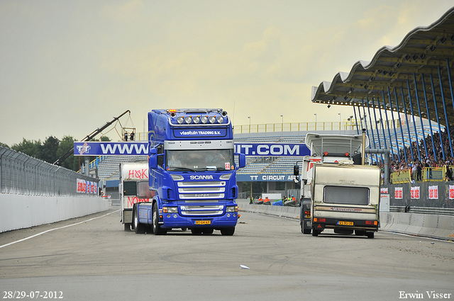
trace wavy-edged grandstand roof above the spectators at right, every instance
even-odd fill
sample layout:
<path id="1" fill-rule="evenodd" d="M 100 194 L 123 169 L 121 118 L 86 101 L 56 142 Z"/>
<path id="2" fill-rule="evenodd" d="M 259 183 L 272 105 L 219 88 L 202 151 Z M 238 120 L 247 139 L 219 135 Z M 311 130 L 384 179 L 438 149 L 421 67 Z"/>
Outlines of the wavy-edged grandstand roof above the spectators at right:
<path id="1" fill-rule="evenodd" d="M 404 113 L 406 108 L 406 113 L 411 114 L 411 103 L 413 115 L 419 116 L 417 95 L 423 118 L 427 118 L 427 112 L 422 103 L 427 99 L 430 119 L 442 125 L 446 125 L 448 119 L 448 124 L 453 125 L 454 101 L 450 80 L 453 64 L 454 7 L 431 25 L 411 30 L 396 47 L 380 48 L 371 62 L 358 61 L 350 73 L 338 72 L 333 81 L 314 86 L 311 101 L 336 106 L 362 106 L 364 102 L 364 106 L 372 107 L 374 100 L 374 108 L 384 108 L 384 99 L 387 110 L 397 111 L 397 98 L 399 112 Z M 439 121 L 436 120 L 433 97 Z"/>

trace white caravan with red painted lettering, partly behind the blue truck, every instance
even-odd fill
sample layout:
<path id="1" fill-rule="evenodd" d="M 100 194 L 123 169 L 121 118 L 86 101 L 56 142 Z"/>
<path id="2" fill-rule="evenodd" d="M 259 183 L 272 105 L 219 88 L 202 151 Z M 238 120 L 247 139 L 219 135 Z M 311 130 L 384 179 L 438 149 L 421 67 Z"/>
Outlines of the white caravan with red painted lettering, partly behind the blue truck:
<path id="1" fill-rule="evenodd" d="M 121 223 L 125 230 L 131 229 L 135 203 L 149 202 L 154 192 L 148 189 L 148 162 L 121 163 L 118 192 L 121 203 Z"/>

